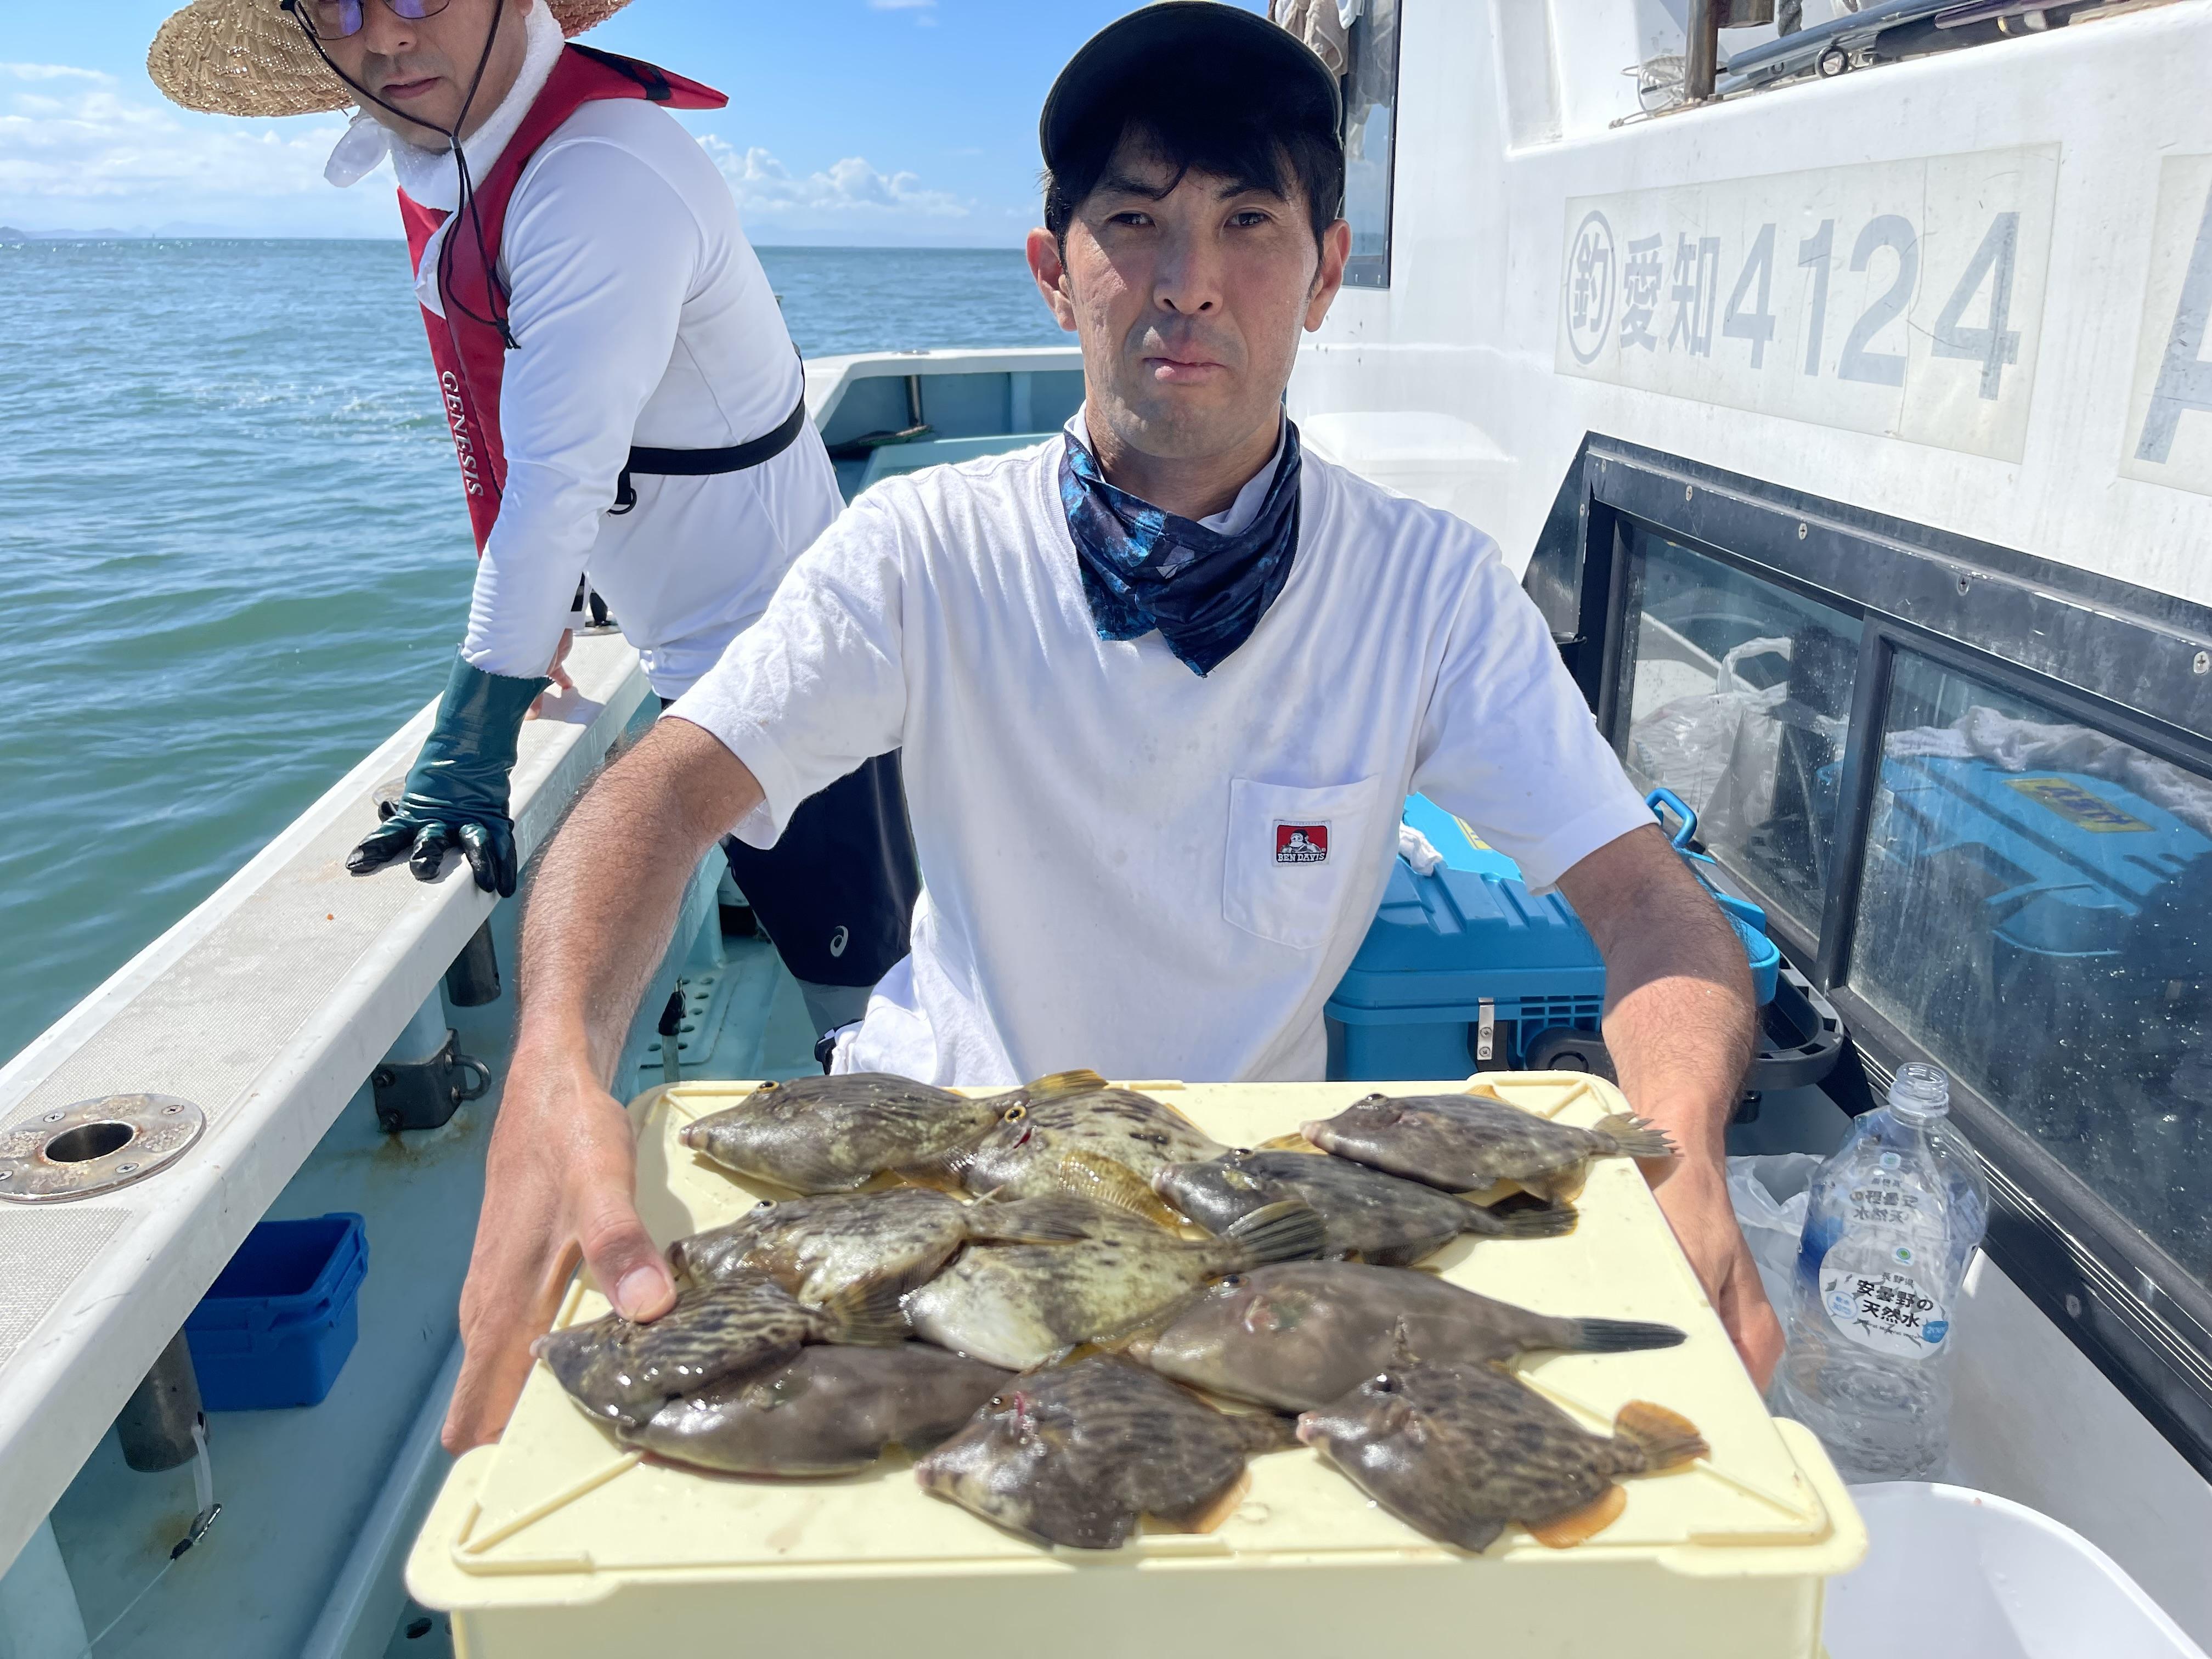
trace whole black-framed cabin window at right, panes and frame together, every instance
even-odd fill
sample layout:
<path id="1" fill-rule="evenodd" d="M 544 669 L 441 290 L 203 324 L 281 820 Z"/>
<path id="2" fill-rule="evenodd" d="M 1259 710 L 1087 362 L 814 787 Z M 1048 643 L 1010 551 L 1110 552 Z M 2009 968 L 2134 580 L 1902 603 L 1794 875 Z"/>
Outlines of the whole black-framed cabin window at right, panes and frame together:
<path id="1" fill-rule="evenodd" d="M 2212 1469 L 2212 606 L 1595 434 L 1524 586 L 1829 1095 L 1944 1066 L 1991 1256 Z"/>

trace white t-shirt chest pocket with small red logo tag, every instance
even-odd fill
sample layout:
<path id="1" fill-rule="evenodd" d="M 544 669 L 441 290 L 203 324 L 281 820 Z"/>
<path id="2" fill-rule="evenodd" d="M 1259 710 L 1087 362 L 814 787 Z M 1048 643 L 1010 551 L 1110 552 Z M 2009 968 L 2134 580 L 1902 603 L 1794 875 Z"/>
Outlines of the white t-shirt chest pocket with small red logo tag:
<path id="1" fill-rule="evenodd" d="M 1327 942 L 1345 885 L 1367 858 L 1374 785 L 1230 779 L 1223 918 L 1294 951 Z"/>

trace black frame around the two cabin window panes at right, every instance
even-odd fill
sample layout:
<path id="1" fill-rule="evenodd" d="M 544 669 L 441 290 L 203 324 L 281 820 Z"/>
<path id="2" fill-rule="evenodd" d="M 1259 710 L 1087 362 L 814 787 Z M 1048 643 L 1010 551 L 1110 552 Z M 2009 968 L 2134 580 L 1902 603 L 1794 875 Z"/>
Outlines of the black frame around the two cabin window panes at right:
<path id="1" fill-rule="evenodd" d="M 1555 637 L 1615 745 L 1626 741 L 1635 526 L 1860 622 L 1818 931 L 1767 905 L 1776 945 L 1851 1033 L 1860 1064 L 1838 1066 L 1827 1084 L 1845 1110 L 1871 1106 L 1907 1060 L 1942 1064 L 1849 978 L 1900 655 L 1927 657 L 2212 776 L 2212 672 L 2197 668 L 2212 661 L 2212 606 L 1593 434 L 1537 557 L 1553 588 L 1579 595 L 1573 628 L 1555 619 Z M 1734 867 L 1725 885 L 1761 902 L 1774 898 Z M 1953 1106 L 1991 1177 L 1991 1259 L 2212 1478 L 2212 1287 L 1995 1102 L 1953 1082 Z"/>

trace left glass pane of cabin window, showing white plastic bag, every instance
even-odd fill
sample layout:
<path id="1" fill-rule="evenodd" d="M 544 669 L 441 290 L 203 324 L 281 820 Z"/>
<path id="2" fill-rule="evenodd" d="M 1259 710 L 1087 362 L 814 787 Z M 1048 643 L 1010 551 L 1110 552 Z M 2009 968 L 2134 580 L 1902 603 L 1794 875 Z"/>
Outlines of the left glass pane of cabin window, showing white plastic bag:
<path id="1" fill-rule="evenodd" d="M 1705 852 L 1818 931 L 1858 619 L 1637 524 L 1621 628 L 1628 774 L 1681 796 Z"/>

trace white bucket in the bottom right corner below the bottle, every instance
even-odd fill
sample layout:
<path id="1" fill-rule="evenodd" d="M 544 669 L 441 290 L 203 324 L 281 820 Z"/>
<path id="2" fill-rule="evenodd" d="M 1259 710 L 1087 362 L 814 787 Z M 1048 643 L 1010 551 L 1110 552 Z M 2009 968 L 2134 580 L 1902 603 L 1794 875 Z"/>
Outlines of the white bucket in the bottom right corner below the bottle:
<path id="1" fill-rule="evenodd" d="M 1871 1548 L 1829 1579 L 1829 1659 L 2205 1659 L 2110 1555 L 1964 1486 L 1854 1486 Z"/>

